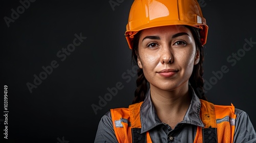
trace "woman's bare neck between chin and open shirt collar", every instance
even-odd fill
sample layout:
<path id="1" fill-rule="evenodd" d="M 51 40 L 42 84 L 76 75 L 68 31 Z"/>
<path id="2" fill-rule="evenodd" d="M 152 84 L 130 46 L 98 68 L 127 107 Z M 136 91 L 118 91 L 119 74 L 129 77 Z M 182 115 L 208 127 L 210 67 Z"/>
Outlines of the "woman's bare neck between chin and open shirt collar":
<path id="1" fill-rule="evenodd" d="M 188 85 L 172 91 L 151 87 L 151 100 L 158 117 L 172 128 L 181 122 L 190 105 Z"/>

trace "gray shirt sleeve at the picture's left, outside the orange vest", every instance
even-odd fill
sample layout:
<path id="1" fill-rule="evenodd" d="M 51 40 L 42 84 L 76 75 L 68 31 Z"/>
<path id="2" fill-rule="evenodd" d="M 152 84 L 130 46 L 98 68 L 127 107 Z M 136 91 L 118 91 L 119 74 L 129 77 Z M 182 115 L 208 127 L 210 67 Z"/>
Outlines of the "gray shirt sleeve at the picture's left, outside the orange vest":
<path id="1" fill-rule="evenodd" d="M 117 141 L 115 131 L 113 128 L 112 118 L 110 111 L 104 114 L 98 124 L 98 129 L 96 132 L 96 137 L 94 143 L 115 143 Z"/>

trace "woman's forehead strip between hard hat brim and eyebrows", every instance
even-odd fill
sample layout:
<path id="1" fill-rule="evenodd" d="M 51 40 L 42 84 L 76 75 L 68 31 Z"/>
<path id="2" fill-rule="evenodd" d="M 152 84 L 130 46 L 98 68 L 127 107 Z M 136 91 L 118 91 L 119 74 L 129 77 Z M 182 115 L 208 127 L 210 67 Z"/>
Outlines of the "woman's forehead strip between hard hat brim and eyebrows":
<path id="1" fill-rule="evenodd" d="M 162 26 L 162 27 L 144 29 L 141 31 L 141 37 L 146 35 L 161 35 L 161 34 L 173 35 L 180 32 L 185 32 L 188 35 L 191 35 L 191 31 L 187 27 L 176 25 L 176 26 Z"/>

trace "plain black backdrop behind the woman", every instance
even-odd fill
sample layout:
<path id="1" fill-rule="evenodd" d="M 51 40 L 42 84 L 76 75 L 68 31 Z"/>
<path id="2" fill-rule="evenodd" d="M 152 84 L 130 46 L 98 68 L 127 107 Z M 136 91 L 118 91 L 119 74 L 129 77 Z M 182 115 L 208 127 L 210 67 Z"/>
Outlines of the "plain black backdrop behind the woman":
<path id="1" fill-rule="evenodd" d="M 124 37 L 132 2 L 0 4 L 1 139 L 7 120 L 9 142 L 93 142 L 100 117 L 132 102 L 136 66 Z M 209 26 L 206 96 L 215 104 L 232 103 L 246 111 L 256 126 L 253 1 L 200 2 Z"/>

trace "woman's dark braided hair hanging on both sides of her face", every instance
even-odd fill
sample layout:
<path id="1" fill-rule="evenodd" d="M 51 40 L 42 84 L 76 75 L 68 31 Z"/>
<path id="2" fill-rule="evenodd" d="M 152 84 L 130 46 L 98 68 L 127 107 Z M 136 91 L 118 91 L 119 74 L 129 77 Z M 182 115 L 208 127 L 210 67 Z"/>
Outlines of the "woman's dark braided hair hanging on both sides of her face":
<path id="1" fill-rule="evenodd" d="M 185 26 L 185 27 L 187 27 L 193 34 L 193 37 L 196 43 L 196 48 L 200 52 L 200 60 L 198 64 L 194 65 L 193 72 L 189 78 L 189 83 L 191 87 L 193 87 L 197 96 L 200 99 L 207 100 L 204 95 L 204 88 L 203 88 L 204 86 L 204 79 L 203 79 L 204 45 L 202 45 L 200 40 L 200 29 L 195 27 L 190 27 L 190 26 Z M 139 44 L 140 34 L 141 34 L 141 31 L 135 34 L 133 39 L 132 60 L 136 65 L 138 65 L 137 58 L 138 58 L 138 44 Z M 138 76 L 136 80 L 137 88 L 135 89 L 135 97 L 132 102 L 133 104 L 144 101 L 145 95 L 149 88 L 148 81 L 146 80 L 143 74 L 143 69 L 141 68 L 138 69 L 137 76 Z"/>

